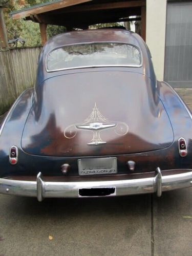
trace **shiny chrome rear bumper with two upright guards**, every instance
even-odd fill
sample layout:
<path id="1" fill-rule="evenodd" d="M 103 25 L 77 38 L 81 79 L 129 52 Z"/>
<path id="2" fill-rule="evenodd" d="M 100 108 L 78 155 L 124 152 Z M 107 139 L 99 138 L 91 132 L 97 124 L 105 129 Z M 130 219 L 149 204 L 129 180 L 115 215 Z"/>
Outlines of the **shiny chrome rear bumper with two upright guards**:
<path id="1" fill-rule="evenodd" d="M 157 193 L 160 197 L 162 191 L 192 186 L 192 170 L 182 171 L 186 173 L 162 176 L 158 167 L 156 176 L 151 178 L 78 182 L 45 182 L 41 173 L 38 173 L 36 181 L 0 179 L 0 193 L 37 197 L 38 201 L 42 201 L 44 198 L 78 198 L 79 189 L 84 188 L 113 187 L 115 193 L 111 196 Z"/>

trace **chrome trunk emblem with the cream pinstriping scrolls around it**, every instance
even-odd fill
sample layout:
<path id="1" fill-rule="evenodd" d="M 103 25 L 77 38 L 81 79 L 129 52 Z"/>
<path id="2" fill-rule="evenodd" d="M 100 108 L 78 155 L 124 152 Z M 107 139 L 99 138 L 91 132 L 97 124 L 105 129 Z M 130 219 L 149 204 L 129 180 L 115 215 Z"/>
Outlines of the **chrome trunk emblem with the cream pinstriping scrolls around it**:
<path id="1" fill-rule="evenodd" d="M 87 145 L 102 145 L 105 144 L 106 141 L 101 139 L 100 133 L 103 130 L 112 128 L 115 129 L 115 133 L 119 136 L 125 135 L 129 130 L 126 123 L 113 122 L 106 119 L 100 113 L 95 103 L 95 106 L 88 118 L 86 118 L 86 120 L 84 120 L 82 123 L 69 125 L 64 131 L 64 136 L 67 139 L 72 139 L 76 136 L 77 130 L 87 130 L 93 133 L 93 139 Z"/>

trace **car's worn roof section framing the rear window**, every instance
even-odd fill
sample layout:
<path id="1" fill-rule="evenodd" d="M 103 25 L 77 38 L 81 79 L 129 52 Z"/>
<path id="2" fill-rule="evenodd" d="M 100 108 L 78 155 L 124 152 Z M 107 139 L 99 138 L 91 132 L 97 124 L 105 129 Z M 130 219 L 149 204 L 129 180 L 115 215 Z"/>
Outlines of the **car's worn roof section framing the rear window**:
<path id="1" fill-rule="evenodd" d="M 89 44 L 94 42 L 95 43 L 119 42 L 122 44 L 131 44 L 136 46 L 137 48 L 139 48 L 142 56 L 141 67 L 134 68 L 134 67 L 119 66 L 119 69 L 124 71 L 141 73 L 150 77 L 153 81 L 156 81 L 151 56 L 149 54 L 149 51 L 147 50 L 145 42 L 140 37 L 140 35 L 124 29 L 93 29 L 93 30 L 72 31 L 72 32 L 59 34 L 52 37 L 49 41 L 47 41 L 39 56 L 36 86 L 40 84 L 42 81 L 48 78 L 51 78 L 53 76 L 74 73 L 74 69 L 47 72 L 46 59 L 49 52 L 51 52 L 53 49 L 56 49 L 62 46 L 75 45 L 75 44 Z M 108 68 L 100 67 L 100 69 L 105 70 L 105 69 L 109 69 L 109 67 Z M 110 69 L 114 69 L 114 68 L 111 67 Z M 115 69 L 117 69 L 117 67 Z M 86 72 L 88 70 L 93 71 L 93 68 L 91 67 L 86 69 L 79 68 L 79 69 L 76 69 L 75 72 Z"/>

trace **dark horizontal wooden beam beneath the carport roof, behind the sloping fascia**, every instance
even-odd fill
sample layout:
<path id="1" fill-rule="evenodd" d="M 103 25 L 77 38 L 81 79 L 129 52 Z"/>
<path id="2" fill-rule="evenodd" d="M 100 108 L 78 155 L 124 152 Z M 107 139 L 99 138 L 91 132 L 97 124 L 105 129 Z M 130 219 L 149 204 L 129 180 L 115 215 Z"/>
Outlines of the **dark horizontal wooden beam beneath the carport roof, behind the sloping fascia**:
<path id="1" fill-rule="evenodd" d="M 88 4 L 83 6 L 73 6 L 63 10 L 59 10 L 58 13 L 71 13 L 71 12 L 87 12 L 87 11 L 99 11 L 99 10 L 110 10 L 120 8 L 133 8 L 145 6 L 146 1 L 125 1 L 125 2 L 112 2 L 103 4 Z M 53 11 L 53 10 L 51 10 Z"/>

